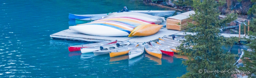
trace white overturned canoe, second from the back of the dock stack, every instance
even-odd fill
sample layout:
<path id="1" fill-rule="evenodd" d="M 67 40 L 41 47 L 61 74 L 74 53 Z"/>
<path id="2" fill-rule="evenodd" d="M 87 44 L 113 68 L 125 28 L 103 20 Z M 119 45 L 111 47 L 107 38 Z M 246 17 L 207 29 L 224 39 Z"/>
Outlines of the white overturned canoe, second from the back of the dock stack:
<path id="1" fill-rule="evenodd" d="M 122 15 L 122 16 L 115 16 L 115 17 L 109 17 L 109 18 L 132 18 L 132 19 L 141 20 L 141 21 L 144 20 L 144 21 L 154 22 L 155 24 L 162 23 L 160 20 L 155 20 L 148 17 L 138 16 L 138 15 Z M 102 19 L 107 19 L 107 18 L 102 18 Z"/>

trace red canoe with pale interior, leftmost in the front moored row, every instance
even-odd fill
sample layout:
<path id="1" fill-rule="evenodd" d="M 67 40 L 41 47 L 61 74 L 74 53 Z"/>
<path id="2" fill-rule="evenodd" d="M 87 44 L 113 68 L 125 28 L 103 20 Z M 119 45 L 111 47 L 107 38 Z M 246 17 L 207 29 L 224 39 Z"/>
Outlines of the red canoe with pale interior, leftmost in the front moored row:
<path id="1" fill-rule="evenodd" d="M 117 40 L 100 42 L 100 43 L 76 45 L 76 46 L 68 46 L 68 50 L 70 52 L 72 52 L 72 51 L 80 51 L 81 48 L 92 47 L 92 46 L 100 46 L 100 45 L 104 45 L 104 44 L 113 44 L 113 43 L 117 43 Z"/>

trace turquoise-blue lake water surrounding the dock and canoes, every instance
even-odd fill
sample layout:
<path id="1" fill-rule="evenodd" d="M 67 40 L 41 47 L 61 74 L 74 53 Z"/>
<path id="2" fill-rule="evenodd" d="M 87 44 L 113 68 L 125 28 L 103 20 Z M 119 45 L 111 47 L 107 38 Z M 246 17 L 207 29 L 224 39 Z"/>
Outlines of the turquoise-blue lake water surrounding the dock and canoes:
<path id="1" fill-rule="evenodd" d="M 123 6 L 130 10 L 172 10 L 137 0 L 1 0 L 0 77 L 176 78 L 185 74 L 181 56 L 158 59 L 143 54 L 131 60 L 128 55 L 94 56 L 68 51 L 68 46 L 92 42 L 49 37 L 71 26 L 68 13 L 109 13 Z M 238 48 L 241 46 L 232 51 L 236 53 Z"/>

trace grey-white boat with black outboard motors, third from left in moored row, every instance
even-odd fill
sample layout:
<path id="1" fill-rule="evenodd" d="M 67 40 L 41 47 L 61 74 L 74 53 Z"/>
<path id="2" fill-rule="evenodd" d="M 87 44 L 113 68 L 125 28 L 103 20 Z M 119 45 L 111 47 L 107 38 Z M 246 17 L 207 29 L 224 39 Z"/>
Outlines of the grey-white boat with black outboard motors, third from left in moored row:
<path id="1" fill-rule="evenodd" d="M 119 48 L 129 46 L 130 44 L 131 44 L 131 42 L 129 42 L 129 41 L 127 41 L 127 42 L 125 42 L 125 43 L 123 43 L 123 44 L 117 43 L 116 45 L 111 46 L 111 47 L 108 47 L 108 48 L 106 48 L 106 49 L 103 49 L 103 48 L 102 48 L 102 49 L 100 49 L 100 50 L 95 50 L 95 51 L 92 51 L 92 52 L 93 52 L 93 54 L 94 54 L 95 56 L 97 56 L 97 55 L 109 54 L 109 52 L 111 52 L 111 51 L 113 51 L 113 50 L 117 50 L 117 49 L 119 49 Z"/>

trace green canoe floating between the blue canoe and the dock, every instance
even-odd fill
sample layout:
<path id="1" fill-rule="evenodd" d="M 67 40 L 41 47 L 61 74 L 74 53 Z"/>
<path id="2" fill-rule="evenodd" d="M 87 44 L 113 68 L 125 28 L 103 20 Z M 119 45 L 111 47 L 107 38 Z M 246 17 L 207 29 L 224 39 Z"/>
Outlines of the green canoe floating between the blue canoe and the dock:
<path id="1" fill-rule="evenodd" d="M 102 17 L 107 16 L 107 14 L 101 15 L 101 16 L 96 16 L 96 17 L 90 17 L 90 18 L 84 18 L 84 19 L 75 19 L 75 24 L 84 24 L 87 22 L 92 22 L 94 20 L 101 19 Z"/>

